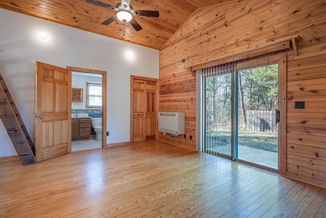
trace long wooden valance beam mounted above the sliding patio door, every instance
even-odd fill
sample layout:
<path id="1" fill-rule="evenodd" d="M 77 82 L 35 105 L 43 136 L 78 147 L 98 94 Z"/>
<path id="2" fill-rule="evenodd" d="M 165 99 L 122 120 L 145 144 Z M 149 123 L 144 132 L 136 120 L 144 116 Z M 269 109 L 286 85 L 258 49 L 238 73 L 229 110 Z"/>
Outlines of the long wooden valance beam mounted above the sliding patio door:
<path id="1" fill-rule="evenodd" d="M 246 51 L 241 51 L 238 53 L 221 56 L 219 58 L 216 58 L 215 61 L 205 61 L 201 64 L 197 64 L 194 66 L 186 66 L 186 67 L 192 67 L 193 70 L 198 70 L 210 66 L 219 65 L 222 63 L 238 61 L 246 58 L 260 56 L 263 54 L 282 51 L 285 49 L 291 49 L 290 40 L 292 40 L 293 38 L 300 39 L 301 37 L 299 35 L 293 35 L 285 38 L 275 39 L 275 41 L 261 45 L 259 47 L 254 47 Z"/>

